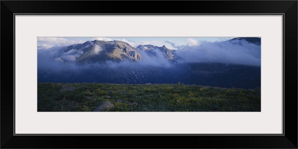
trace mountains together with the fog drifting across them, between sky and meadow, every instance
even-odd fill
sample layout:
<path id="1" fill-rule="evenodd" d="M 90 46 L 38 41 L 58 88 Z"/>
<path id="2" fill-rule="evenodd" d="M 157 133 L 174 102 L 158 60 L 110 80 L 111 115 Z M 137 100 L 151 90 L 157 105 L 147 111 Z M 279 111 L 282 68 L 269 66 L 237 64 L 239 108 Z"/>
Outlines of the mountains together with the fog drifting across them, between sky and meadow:
<path id="1" fill-rule="evenodd" d="M 170 42 L 170 41 L 168 41 Z M 185 83 L 260 87 L 260 38 L 131 46 L 124 41 L 87 41 L 38 49 L 38 82 Z"/>

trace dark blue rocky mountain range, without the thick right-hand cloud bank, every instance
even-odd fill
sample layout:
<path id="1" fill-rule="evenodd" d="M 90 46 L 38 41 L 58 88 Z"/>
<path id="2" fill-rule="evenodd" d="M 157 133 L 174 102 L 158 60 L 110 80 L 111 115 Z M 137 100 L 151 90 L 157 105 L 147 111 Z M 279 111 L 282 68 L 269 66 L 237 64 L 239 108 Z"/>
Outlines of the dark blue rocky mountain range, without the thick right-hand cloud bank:
<path id="1" fill-rule="evenodd" d="M 241 47 L 243 41 L 250 46 L 261 44 L 260 38 L 250 37 L 223 42 Z M 217 61 L 186 62 L 188 57 L 181 55 L 179 50 L 164 45 L 133 47 L 123 41 L 87 41 L 59 49 L 52 58 L 57 69 L 48 69 L 38 63 L 37 80 L 128 84 L 181 82 L 243 89 L 261 86 L 260 66 Z"/>

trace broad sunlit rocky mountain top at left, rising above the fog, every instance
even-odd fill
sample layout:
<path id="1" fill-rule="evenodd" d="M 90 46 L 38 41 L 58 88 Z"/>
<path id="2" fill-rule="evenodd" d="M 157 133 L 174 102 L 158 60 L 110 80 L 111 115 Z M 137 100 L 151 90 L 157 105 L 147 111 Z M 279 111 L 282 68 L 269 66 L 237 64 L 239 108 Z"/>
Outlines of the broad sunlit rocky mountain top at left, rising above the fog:
<path id="1" fill-rule="evenodd" d="M 63 61 L 77 61 L 78 63 L 103 63 L 107 60 L 115 62 L 141 60 L 141 54 L 131 45 L 123 41 L 87 41 L 63 47 L 59 51 Z M 71 55 L 72 59 L 67 57 Z M 68 56 L 69 56 L 68 55 Z"/>

